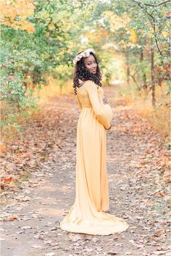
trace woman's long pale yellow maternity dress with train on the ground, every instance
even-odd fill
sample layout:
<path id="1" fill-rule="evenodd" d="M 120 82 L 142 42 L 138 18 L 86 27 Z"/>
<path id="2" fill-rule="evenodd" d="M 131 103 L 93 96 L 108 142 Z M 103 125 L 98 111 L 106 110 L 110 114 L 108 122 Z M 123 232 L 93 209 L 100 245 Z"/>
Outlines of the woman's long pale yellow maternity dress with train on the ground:
<path id="1" fill-rule="evenodd" d="M 60 222 L 64 231 L 109 235 L 129 226 L 109 210 L 107 181 L 107 130 L 112 120 L 109 104 L 103 104 L 104 91 L 87 80 L 77 88 L 80 116 L 77 127 L 75 202 Z"/>

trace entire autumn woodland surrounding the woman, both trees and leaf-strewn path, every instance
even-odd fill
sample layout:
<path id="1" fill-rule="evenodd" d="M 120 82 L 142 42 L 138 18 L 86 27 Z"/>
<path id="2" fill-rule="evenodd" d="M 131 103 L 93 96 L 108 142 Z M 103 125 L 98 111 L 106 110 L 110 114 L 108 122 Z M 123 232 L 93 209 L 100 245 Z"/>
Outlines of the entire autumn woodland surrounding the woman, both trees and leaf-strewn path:
<path id="1" fill-rule="evenodd" d="M 94 256 L 97 241 L 97 255 L 169 256 L 169 4 L 169 0 L 0 0 L 4 255 L 25 252 L 24 256 L 30 256 L 31 247 L 33 255 L 46 251 L 53 256 L 55 252 L 49 249 L 57 249 L 61 256 L 69 254 L 68 246 L 73 255 Z M 112 239 L 72 234 L 68 238 L 53 229 L 55 220 L 66 214 L 70 199 L 74 200 L 79 112 L 72 88 L 72 60 L 87 48 L 96 51 L 104 91 L 114 111 L 108 133 L 110 201 L 117 204 L 117 215 L 133 224 L 128 236 L 120 236 L 119 244 L 114 236 L 116 247 Z M 58 190 L 51 194 L 52 188 Z M 34 189 L 39 205 L 54 200 L 46 205 L 46 226 L 37 223 L 45 217 L 36 212 Z M 17 226 L 18 221 L 25 226 Z M 51 237 L 57 231 L 59 244 Z M 89 244 L 83 251 L 86 241 Z M 108 246 L 110 250 L 103 252 Z"/>

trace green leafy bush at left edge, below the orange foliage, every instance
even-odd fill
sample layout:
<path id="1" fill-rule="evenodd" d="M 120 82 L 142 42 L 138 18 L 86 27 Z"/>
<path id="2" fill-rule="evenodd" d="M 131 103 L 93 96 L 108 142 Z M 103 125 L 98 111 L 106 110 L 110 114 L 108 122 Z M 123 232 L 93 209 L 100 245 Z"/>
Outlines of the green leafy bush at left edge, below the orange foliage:
<path id="1" fill-rule="evenodd" d="M 1 100 L 17 106 L 18 110 L 35 104 L 32 94 L 27 91 L 25 79 L 33 75 L 41 61 L 34 51 L 18 51 L 12 44 L 1 44 Z M 27 94 L 26 94 L 27 93 Z"/>

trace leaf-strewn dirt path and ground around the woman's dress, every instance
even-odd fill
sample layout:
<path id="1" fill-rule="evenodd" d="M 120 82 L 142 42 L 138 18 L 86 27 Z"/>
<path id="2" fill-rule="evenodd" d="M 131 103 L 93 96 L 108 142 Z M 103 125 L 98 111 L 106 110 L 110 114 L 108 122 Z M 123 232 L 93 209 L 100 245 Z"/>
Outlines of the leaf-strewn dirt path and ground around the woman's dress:
<path id="1" fill-rule="evenodd" d="M 171 255 L 169 149 L 114 90 L 104 88 L 114 112 L 107 131 L 110 213 L 129 228 L 109 236 L 59 228 L 75 201 L 79 110 L 74 96 L 54 96 L 1 157 L 1 256 Z"/>

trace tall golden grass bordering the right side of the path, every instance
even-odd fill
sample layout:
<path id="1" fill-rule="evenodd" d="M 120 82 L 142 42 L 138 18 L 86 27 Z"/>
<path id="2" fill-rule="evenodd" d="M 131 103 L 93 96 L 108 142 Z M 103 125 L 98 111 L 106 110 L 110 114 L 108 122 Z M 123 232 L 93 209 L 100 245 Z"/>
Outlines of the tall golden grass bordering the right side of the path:
<path id="1" fill-rule="evenodd" d="M 152 106 L 151 91 L 137 91 L 134 86 L 122 86 L 117 93 L 125 104 L 133 106 L 138 115 L 149 121 L 153 128 L 170 139 L 170 95 L 166 86 L 156 87 L 156 108 Z"/>

